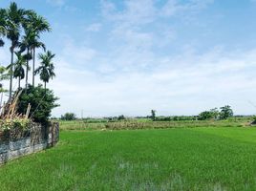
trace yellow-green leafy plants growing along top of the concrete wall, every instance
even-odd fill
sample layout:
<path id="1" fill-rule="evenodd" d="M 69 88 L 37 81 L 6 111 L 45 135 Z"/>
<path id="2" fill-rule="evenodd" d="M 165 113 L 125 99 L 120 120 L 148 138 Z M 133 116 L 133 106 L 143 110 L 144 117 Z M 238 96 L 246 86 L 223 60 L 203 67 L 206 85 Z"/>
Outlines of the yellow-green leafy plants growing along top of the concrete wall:
<path id="1" fill-rule="evenodd" d="M 28 118 L 8 118 L 8 119 L 0 119 L 0 130 L 8 131 L 11 129 L 26 129 L 29 127 L 30 119 Z"/>

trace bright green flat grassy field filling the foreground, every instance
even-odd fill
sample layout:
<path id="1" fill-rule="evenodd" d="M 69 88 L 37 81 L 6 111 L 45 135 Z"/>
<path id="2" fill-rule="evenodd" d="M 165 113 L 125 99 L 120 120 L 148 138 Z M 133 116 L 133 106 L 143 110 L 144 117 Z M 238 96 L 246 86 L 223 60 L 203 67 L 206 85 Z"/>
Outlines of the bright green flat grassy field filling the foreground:
<path id="1" fill-rule="evenodd" d="M 256 190 L 256 129 L 62 131 L 0 167 L 0 190 Z"/>

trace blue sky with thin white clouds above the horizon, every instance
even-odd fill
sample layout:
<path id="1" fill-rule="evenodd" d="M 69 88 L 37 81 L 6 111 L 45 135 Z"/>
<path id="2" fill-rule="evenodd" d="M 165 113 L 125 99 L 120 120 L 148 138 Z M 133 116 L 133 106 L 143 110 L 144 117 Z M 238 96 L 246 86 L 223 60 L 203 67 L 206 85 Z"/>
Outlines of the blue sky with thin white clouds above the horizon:
<path id="1" fill-rule="evenodd" d="M 42 35 L 56 54 L 53 117 L 256 113 L 256 0 L 15 2 L 53 28 Z M 9 62 L 7 42 L 0 63 Z"/>

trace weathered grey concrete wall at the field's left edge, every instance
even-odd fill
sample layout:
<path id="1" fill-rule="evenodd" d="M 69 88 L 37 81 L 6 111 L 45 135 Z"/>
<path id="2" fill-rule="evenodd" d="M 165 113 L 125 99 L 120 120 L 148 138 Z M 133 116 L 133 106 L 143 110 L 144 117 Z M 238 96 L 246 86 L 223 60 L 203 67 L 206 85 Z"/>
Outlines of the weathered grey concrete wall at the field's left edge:
<path id="1" fill-rule="evenodd" d="M 32 123 L 29 129 L 0 132 L 0 164 L 53 147 L 59 139 L 56 122 L 48 126 Z"/>

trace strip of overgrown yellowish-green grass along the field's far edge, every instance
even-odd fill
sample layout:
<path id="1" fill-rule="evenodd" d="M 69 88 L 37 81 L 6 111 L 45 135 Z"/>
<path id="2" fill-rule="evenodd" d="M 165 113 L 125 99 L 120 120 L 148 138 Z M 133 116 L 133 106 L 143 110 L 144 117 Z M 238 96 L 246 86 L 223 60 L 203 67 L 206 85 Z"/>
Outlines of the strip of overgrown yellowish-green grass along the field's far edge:
<path id="1" fill-rule="evenodd" d="M 166 129 L 193 127 L 245 127 L 252 118 L 229 118 L 226 120 L 181 120 L 181 121 L 152 121 L 150 119 L 128 119 L 116 122 L 92 122 L 87 120 L 60 120 L 61 130 L 127 130 L 127 129 Z"/>

